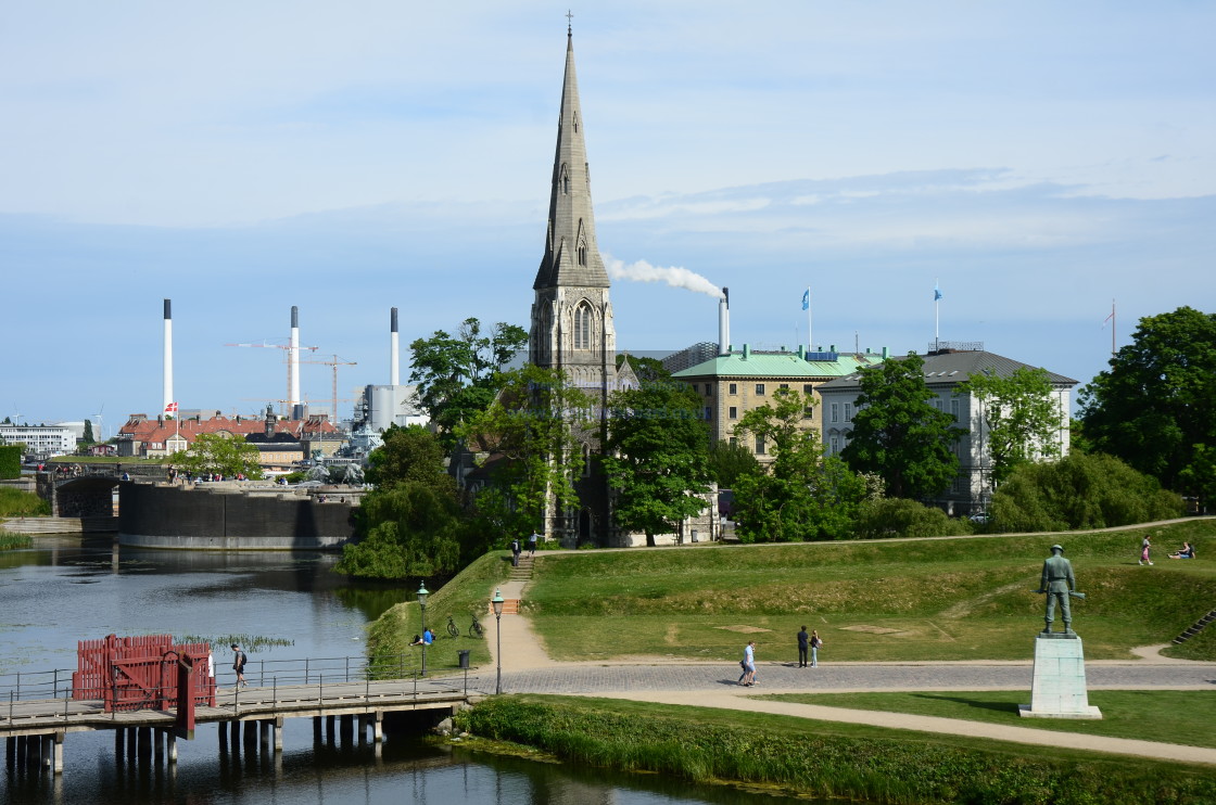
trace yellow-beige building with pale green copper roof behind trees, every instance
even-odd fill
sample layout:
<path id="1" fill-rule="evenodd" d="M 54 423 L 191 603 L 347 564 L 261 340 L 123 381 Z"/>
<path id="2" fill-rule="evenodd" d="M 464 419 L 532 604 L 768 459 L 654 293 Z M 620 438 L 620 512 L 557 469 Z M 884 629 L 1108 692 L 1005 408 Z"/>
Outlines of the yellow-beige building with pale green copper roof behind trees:
<path id="1" fill-rule="evenodd" d="M 676 355 L 688 351 L 683 350 Z M 674 372 L 672 377 L 687 382 L 700 395 L 702 412 L 709 423 L 713 438 L 738 444 L 743 439 L 734 433 L 739 420 L 748 411 L 773 402 L 773 395 L 778 389 L 811 394 L 818 400 L 818 389 L 828 381 L 867 366 L 876 366 L 885 356 L 885 349 L 882 354 L 855 355 L 835 351 L 809 353 L 803 347 L 799 347 L 796 353 L 758 351 L 744 344 L 742 351 L 715 355 L 696 366 Z M 814 407 L 805 410 L 803 427 L 806 430 L 820 429 L 820 417 Z M 761 462 L 772 460 L 769 445 L 764 440 L 748 438 L 744 446 Z"/>

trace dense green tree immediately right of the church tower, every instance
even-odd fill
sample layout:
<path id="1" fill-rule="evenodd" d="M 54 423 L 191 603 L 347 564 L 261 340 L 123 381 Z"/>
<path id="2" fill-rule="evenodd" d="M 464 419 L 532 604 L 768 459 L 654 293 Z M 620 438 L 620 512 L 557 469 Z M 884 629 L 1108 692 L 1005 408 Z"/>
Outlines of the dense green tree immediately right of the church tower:
<path id="1" fill-rule="evenodd" d="M 642 381 L 609 400 L 603 466 L 615 490 L 617 525 L 646 534 L 679 529 L 705 510 L 709 491 L 709 428 L 700 398 L 687 383 Z"/>

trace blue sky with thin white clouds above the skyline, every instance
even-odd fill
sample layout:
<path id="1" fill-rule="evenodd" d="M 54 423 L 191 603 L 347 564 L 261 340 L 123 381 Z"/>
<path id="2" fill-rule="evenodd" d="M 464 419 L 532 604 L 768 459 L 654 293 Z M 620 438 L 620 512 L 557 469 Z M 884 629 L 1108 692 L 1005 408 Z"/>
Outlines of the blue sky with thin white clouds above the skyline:
<path id="1" fill-rule="evenodd" d="M 1216 310 L 1216 6 L 574 7 L 601 249 L 731 287 L 732 337 L 1087 382 L 1141 316 Z M 0 416 L 109 430 L 286 392 L 291 305 L 339 396 L 401 338 L 527 325 L 567 5 L 10 4 L 0 26 Z M 715 302 L 613 286 L 621 348 L 716 338 Z M 407 376 L 407 367 L 402 376 Z M 323 405 L 331 372 L 305 366 Z M 102 409 L 103 406 L 103 409 Z M 340 404 L 343 411 L 349 402 Z"/>

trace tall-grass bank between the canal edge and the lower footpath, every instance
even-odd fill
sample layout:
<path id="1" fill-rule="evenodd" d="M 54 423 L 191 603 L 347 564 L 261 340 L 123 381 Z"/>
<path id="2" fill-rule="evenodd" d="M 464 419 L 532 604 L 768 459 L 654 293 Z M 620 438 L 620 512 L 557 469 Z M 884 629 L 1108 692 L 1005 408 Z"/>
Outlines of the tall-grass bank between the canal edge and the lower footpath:
<path id="1" fill-rule="evenodd" d="M 1210 803 L 1209 766 L 618 699 L 491 697 L 474 736 L 580 765 L 874 803 Z"/>

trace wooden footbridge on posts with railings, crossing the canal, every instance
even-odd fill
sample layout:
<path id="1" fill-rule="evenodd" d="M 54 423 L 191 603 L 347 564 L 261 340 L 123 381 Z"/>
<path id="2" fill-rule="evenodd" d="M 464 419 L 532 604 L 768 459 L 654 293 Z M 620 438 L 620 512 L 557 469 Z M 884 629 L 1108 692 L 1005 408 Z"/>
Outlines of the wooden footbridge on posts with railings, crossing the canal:
<path id="1" fill-rule="evenodd" d="M 423 677 L 410 671 L 398 679 L 373 680 L 375 668 L 365 658 L 327 658 L 275 660 L 269 676 L 264 671 L 249 677 L 258 685 L 246 688 L 221 688 L 214 707 L 195 708 L 196 724 L 219 724 L 223 749 L 258 743 L 275 753 L 283 748 L 285 719 L 313 719 L 314 737 L 322 730 L 330 739 L 336 722 L 345 739 L 359 728 L 359 741 L 372 731 L 377 751 L 383 741 L 383 721 L 390 713 L 420 713 L 438 724 L 480 693 L 471 692 L 468 670 L 461 676 Z M 396 659 L 383 668 L 401 668 Z M 371 670 L 371 672 L 370 672 Z M 0 677 L 0 734 L 5 737 L 6 766 L 10 771 L 24 766 L 63 771 L 64 741 L 72 732 L 108 730 L 114 733 L 116 758 L 154 758 L 157 764 L 176 762 L 179 737 L 193 738 L 178 726 L 176 709 L 107 711 L 101 699 L 77 700 L 72 697 L 72 671 L 43 671 Z M 477 676 L 474 686 L 480 685 Z M 50 693 L 50 696 L 47 696 Z M 7 699 L 4 702 L 2 699 Z"/>

